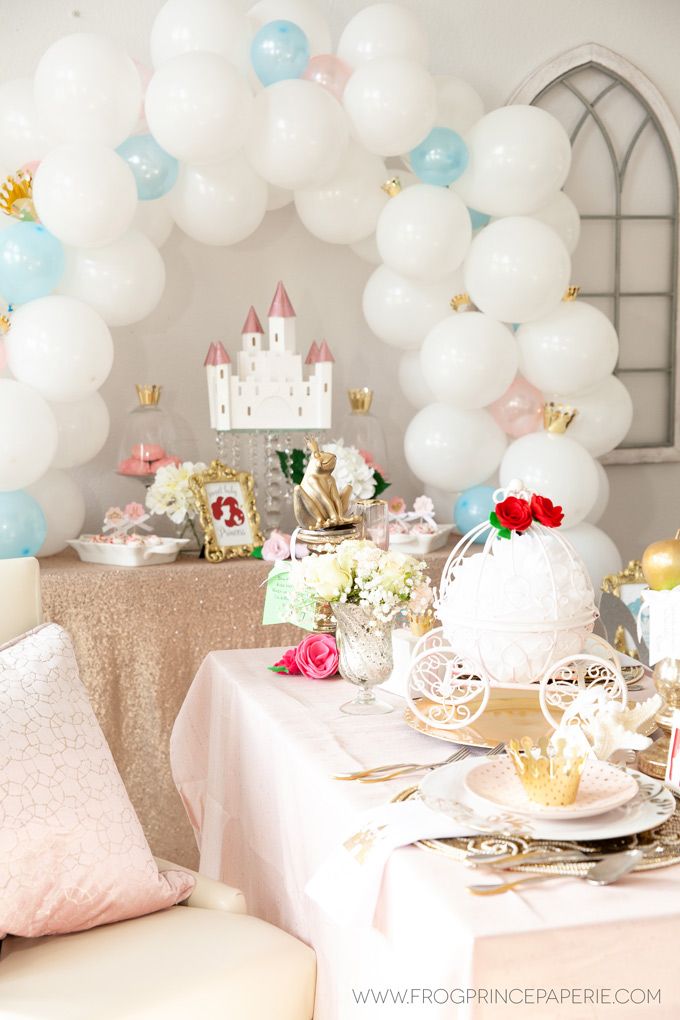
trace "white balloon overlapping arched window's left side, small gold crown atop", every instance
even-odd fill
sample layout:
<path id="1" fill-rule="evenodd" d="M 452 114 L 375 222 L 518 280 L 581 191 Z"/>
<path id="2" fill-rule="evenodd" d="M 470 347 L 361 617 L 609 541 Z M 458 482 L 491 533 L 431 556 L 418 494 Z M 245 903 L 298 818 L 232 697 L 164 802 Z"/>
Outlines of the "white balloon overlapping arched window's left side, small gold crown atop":
<path id="1" fill-rule="evenodd" d="M 555 303 L 517 330 L 520 371 L 543 393 L 579 393 L 604 382 L 619 356 L 616 329 L 585 301 Z"/>

